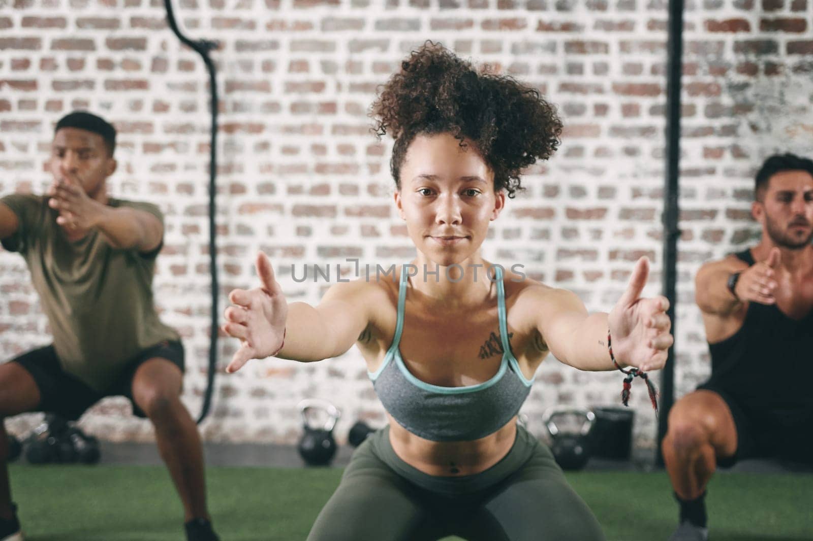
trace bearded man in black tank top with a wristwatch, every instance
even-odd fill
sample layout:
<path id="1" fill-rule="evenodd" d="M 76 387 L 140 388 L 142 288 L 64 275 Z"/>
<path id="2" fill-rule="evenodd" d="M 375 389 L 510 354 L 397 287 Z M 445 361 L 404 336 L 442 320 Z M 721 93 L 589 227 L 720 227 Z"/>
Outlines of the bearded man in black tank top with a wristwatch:
<path id="1" fill-rule="evenodd" d="M 696 278 L 711 379 L 669 413 L 663 459 L 680 504 L 671 541 L 703 541 L 706 483 L 746 457 L 813 463 L 813 161 L 775 155 L 756 177 L 759 245 Z"/>

